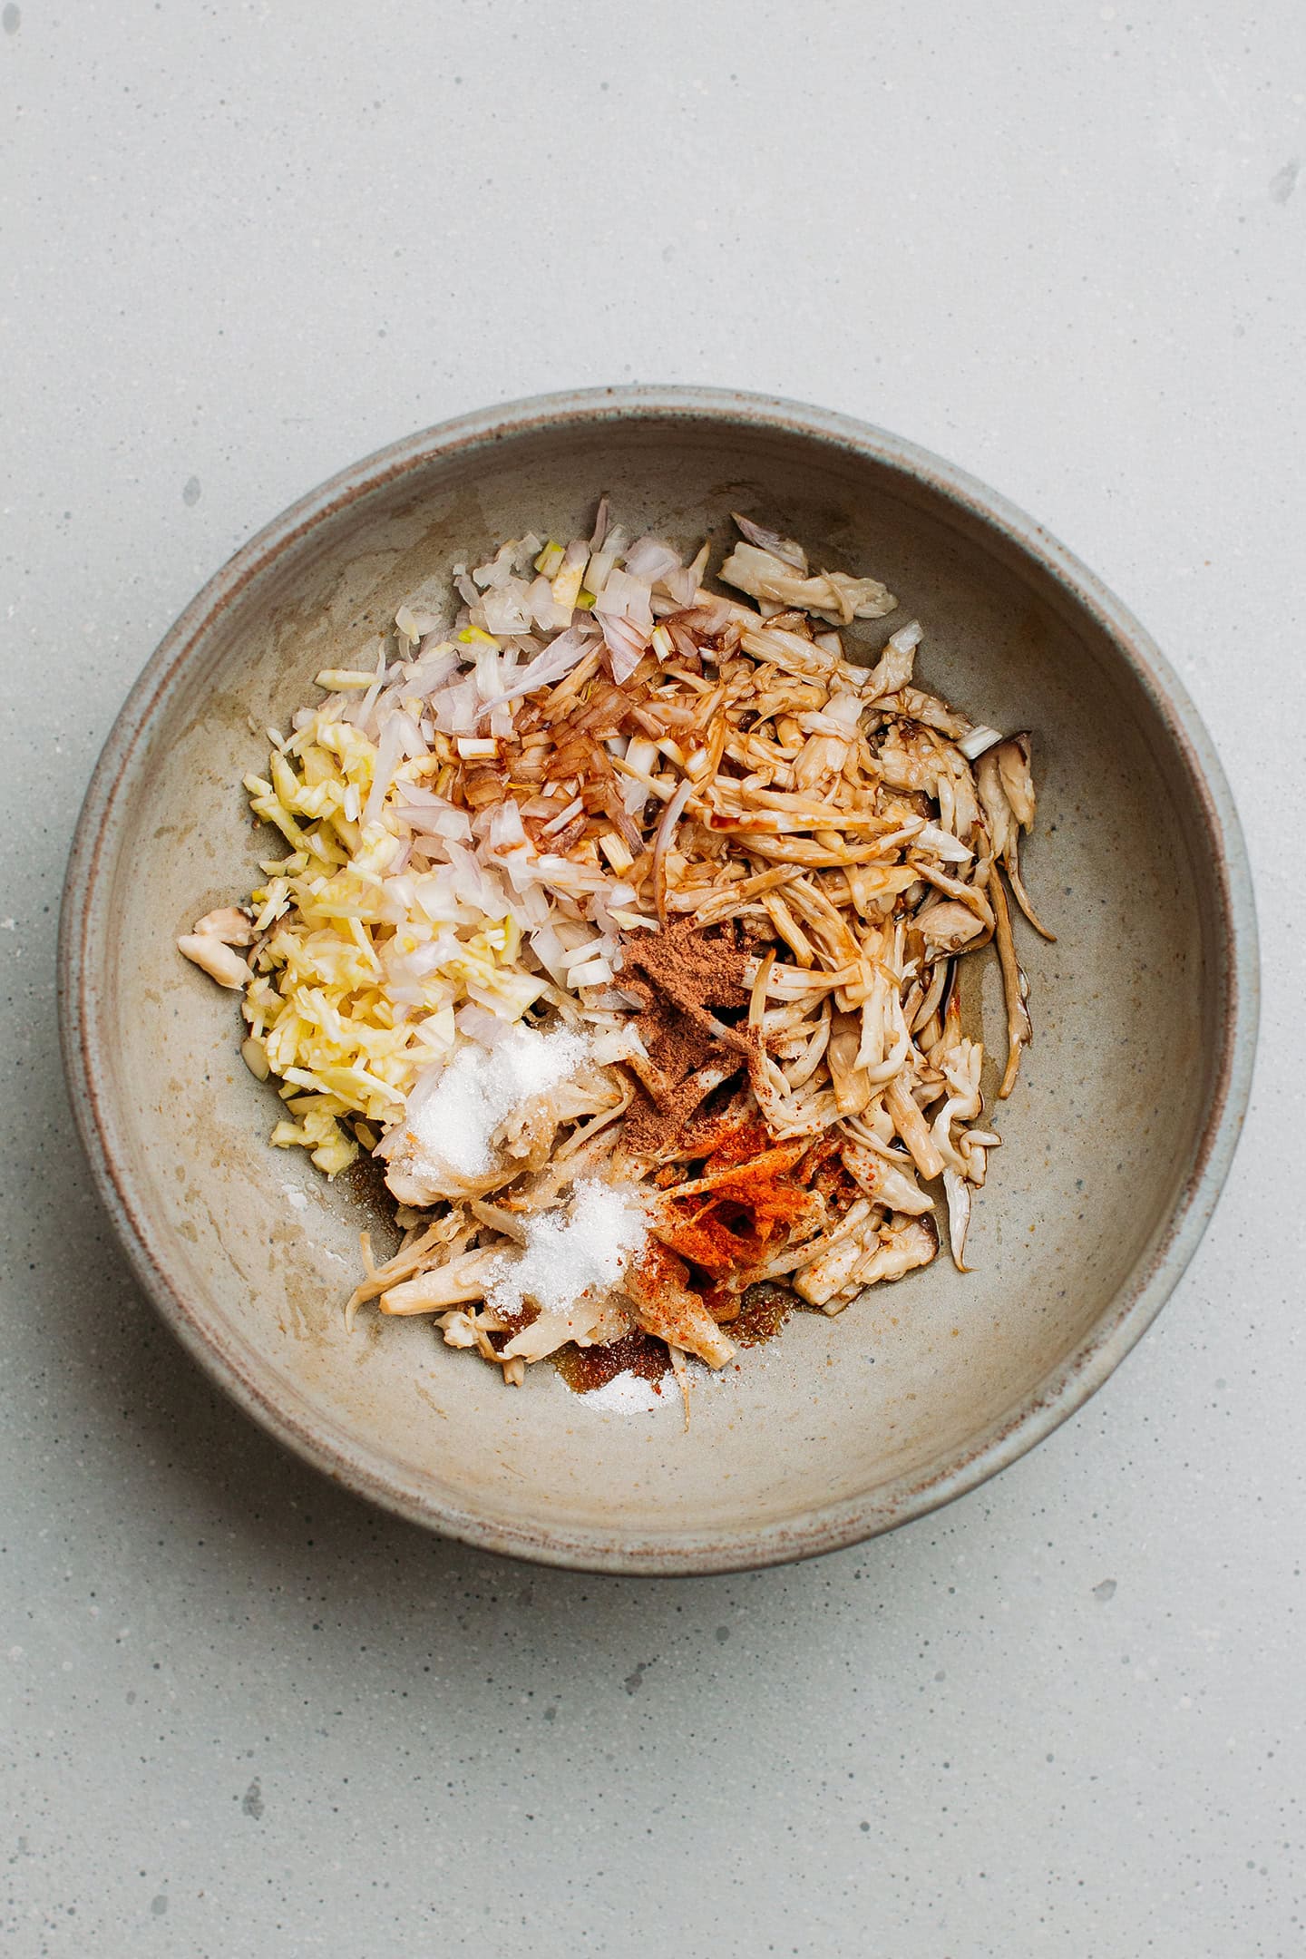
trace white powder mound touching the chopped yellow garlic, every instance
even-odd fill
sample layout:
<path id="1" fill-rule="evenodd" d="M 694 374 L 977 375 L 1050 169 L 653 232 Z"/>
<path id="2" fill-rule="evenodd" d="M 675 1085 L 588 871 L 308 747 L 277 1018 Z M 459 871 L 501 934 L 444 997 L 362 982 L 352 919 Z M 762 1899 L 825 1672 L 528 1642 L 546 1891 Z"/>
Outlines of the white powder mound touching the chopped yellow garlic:
<path id="1" fill-rule="evenodd" d="M 515 1027 L 486 1052 L 466 1046 L 407 1099 L 407 1128 L 417 1148 L 413 1171 L 431 1183 L 480 1177 L 490 1170 L 490 1138 L 533 1095 L 548 1095 L 589 1054 L 583 1034 Z"/>

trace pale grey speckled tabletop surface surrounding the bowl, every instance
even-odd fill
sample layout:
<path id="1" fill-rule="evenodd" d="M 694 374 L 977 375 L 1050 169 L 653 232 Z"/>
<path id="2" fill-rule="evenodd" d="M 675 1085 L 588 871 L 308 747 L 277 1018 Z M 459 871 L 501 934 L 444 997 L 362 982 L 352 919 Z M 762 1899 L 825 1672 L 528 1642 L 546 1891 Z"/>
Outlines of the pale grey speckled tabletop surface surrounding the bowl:
<path id="1" fill-rule="evenodd" d="M 2 1514 L 37 1953 L 1304 1949 L 1306 16 L 1061 0 L 0 10 Z M 390 437 L 601 380 L 991 480 L 1214 727 L 1253 1113 L 1153 1334 L 863 1550 L 499 1563 L 284 1457 L 155 1324 L 70 1130 L 59 880 L 137 668 Z"/>

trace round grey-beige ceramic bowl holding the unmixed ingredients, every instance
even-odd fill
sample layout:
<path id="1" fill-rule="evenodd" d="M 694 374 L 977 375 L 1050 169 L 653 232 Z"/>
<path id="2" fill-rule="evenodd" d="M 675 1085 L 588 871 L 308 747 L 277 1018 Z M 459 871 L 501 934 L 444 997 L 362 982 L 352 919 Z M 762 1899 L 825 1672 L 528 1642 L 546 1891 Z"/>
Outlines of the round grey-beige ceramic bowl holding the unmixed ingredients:
<path id="1" fill-rule="evenodd" d="M 766 513 L 924 623 L 926 686 L 1032 729 L 1022 852 L 1055 944 L 1022 931 L 1036 1038 L 999 1109 L 973 1271 L 946 1258 L 738 1369 L 619 1412 L 550 1367 L 523 1389 L 423 1320 L 347 1334 L 368 1199 L 300 1152 L 237 1054 L 239 1011 L 174 950 L 266 854 L 241 778 L 266 723 L 421 580 L 597 492 L 636 529 L 724 539 Z M 871 635 L 873 637 L 873 629 Z M 1020 929 L 1020 927 L 1018 927 Z M 981 962 L 977 962 L 981 964 Z M 997 1054 L 997 970 L 971 1011 Z M 1185 1269 L 1234 1152 L 1255 1040 L 1237 817 L 1157 648 L 1032 519 L 897 437 L 789 402 L 599 390 L 488 409 L 370 456 L 268 525 L 137 682 L 69 870 L 63 1028 L 94 1175 L 182 1342 L 272 1434 L 435 1530 L 603 1571 L 803 1557 L 1010 1463 L 1112 1371 Z"/>

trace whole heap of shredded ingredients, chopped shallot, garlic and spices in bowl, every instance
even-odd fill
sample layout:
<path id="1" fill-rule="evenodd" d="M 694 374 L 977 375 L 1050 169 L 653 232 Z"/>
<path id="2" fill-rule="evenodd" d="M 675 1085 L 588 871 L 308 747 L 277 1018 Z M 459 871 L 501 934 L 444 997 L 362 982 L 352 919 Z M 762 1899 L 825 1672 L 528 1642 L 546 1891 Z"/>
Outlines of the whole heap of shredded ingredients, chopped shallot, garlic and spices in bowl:
<path id="1" fill-rule="evenodd" d="M 840 1313 L 938 1252 L 965 1271 L 999 1136 L 959 962 L 993 940 L 1010 1095 L 1030 737 L 914 684 L 897 599 L 736 517 L 719 580 L 599 505 L 523 537 L 462 609 L 417 594 L 268 731 L 286 840 L 186 958 L 243 993 L 272 1130 L 386 1166 L 403 1242 L 349 1313 L 433 1314 L 519 1385 L 632 1334 L 723 1367 L 758 1281 Z"/>

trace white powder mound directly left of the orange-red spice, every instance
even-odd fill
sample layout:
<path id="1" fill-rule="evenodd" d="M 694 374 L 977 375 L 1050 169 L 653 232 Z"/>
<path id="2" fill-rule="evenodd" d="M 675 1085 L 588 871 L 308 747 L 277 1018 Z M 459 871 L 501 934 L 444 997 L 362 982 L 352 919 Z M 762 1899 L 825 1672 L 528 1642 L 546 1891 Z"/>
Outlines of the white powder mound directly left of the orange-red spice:
<path id="1" fill-rule="evenodd" d="M 491 1269 L 486 1299 L 513 1313 L 525 1301 L 540 1313 L 568 1313 L 582 1299 L 611 1291 L 630 1252 L 644 1242 L 644 1213 L 611 1183 L 580 1183 L 564 1213 L 525 1220 L 517 1258 Z"/>

